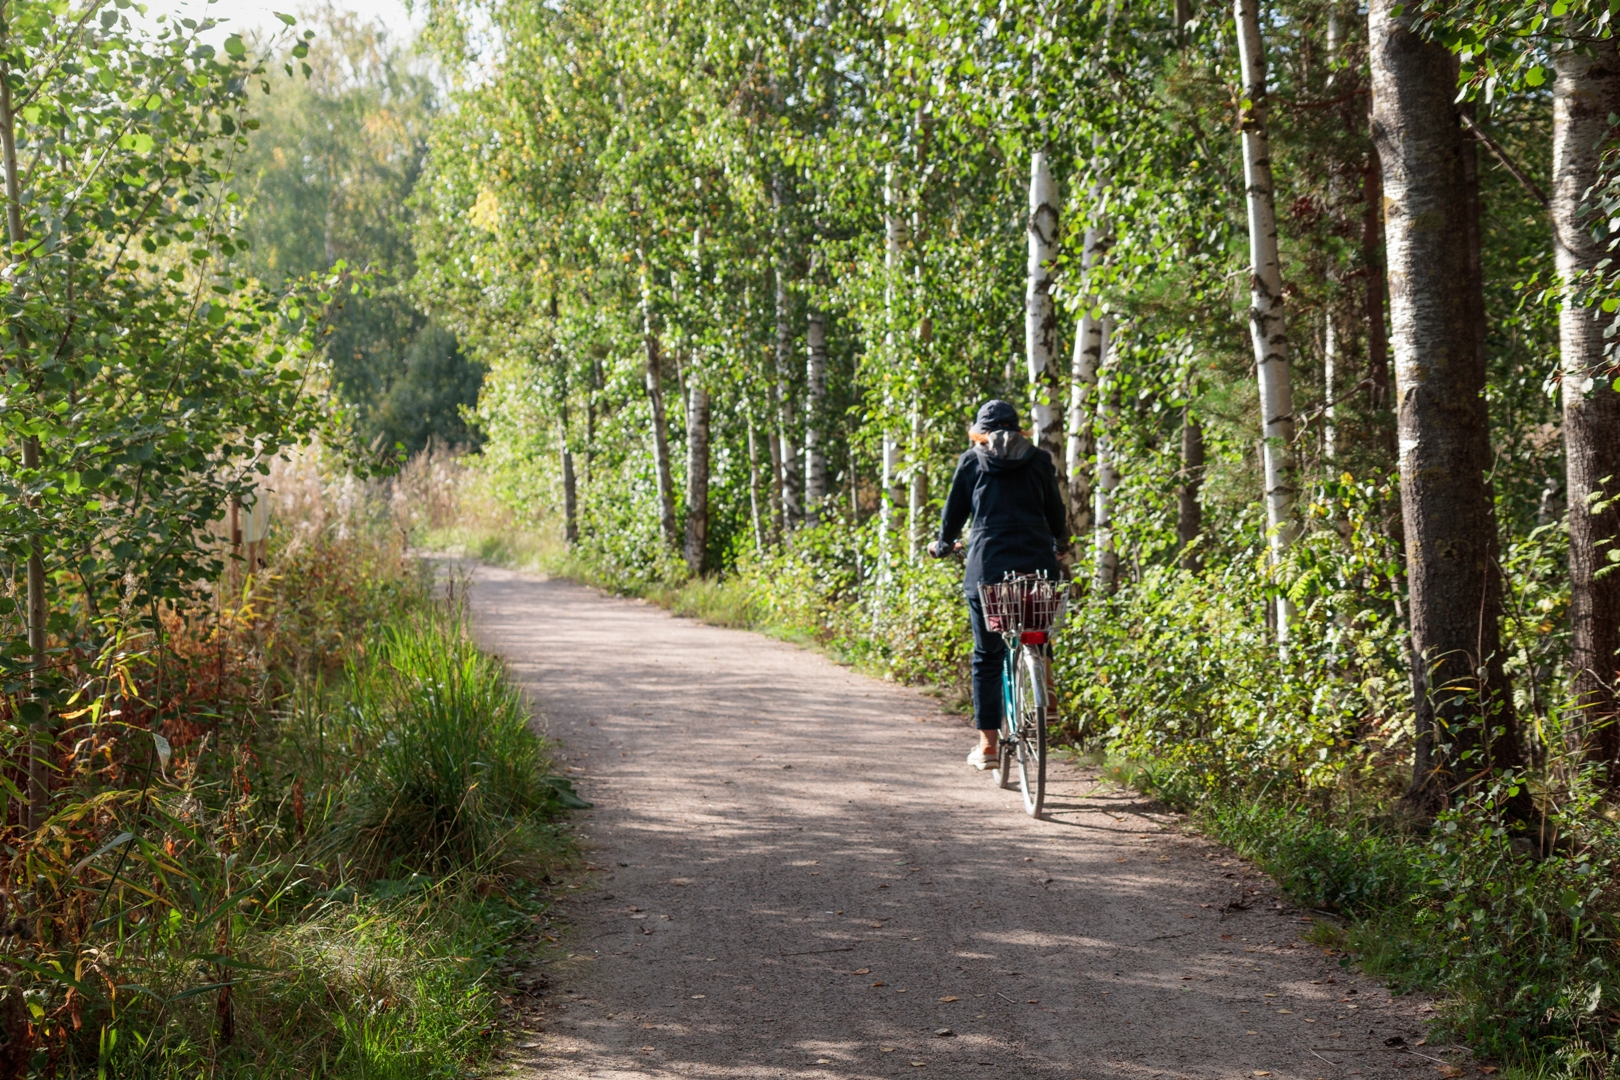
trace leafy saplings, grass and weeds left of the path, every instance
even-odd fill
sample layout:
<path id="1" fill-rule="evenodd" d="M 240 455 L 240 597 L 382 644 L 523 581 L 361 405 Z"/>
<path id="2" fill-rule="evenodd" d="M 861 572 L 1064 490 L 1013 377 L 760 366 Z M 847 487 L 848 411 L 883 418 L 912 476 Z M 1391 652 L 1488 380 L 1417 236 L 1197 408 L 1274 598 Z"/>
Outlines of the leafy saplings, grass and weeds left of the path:
<path id="1" fill-rule="evenodd" d="M 582 803 L 332 377 L 399 274 L 246 257 L 314 31 L 0 15 L 0 1080 L 470 1075 Z"/>

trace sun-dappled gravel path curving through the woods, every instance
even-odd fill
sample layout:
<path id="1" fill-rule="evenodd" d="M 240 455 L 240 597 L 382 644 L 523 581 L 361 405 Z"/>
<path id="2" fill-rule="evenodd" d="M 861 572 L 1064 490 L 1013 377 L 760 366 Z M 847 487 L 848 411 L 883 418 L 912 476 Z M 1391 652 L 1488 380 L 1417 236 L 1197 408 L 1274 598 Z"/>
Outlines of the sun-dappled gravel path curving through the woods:
<path id="1" fill-rule="evenodd" d="M 1032 821 L 914 690 L 565 581 L 470 599 L 596 803 L 518 1075 L 1442 1075 L 1429 1006 L 1092 771 Z"/>

